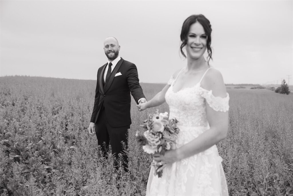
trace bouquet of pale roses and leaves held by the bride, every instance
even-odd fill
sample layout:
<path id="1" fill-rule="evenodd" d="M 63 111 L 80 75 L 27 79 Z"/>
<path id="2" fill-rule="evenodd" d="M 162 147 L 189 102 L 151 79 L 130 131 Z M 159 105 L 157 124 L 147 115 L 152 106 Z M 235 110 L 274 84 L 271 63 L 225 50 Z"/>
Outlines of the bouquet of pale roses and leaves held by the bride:
<path id="1" fill-rule="evenodd" d="M 158 110 L 154 114 L 149 114 L 149 118 L 144 120 L 144 124 L 140 125 L 146 131 L 140 134 L 136 133 L 136 140 L 139 145 L 142 145 L 144 152 L 148 154 L 160 153 L 164 155 L 166 150 L 172 149 L 176 144 L 179 128 L 176 119 L 168 119 L 168 112 L 159 113 Z M 163 166 L 162 163 L 153 161 L 152 166 L 155 167 L 155 174 L 158 177 L 162 176 L 163 170 L 158 172 L 158 169 Z"/>

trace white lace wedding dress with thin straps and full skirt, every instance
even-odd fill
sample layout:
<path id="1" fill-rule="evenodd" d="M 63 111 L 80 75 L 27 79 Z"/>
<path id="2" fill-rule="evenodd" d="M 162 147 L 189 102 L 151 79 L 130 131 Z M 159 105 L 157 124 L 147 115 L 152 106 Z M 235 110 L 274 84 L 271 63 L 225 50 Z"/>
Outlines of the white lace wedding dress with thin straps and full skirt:
<path id="1" fill-rule="evenodd" d="M 176 79 L 171 77 L 168 82 L 171 86 L 165 99 L 170 108 L 169 118 L 176 118 L 180 129 L 176 148 L 209 129 L 206 103 L 215 111 L 229 110 L 229 94 L 225 98 L 213 96 L 212 91 L 200 86 L 202 78 L 195 86 L 178 92 L 173 91 Z M 146 195 L 228 195 L 221 162 L 217 146 L 213 145 L 201 153 L 169 164 L 163 169 L 161 178 L 154 176 L 154 167 L 151 167 Z"/>

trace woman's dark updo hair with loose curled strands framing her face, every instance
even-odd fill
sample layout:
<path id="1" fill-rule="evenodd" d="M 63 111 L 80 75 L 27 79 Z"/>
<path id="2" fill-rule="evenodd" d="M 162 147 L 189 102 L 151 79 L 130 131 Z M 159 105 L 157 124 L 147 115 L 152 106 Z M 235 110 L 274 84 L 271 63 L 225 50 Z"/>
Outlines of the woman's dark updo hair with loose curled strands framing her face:
<path id="1" fill-rule="evenodd" d="M 187 34 L 189 32 L 190 26 L 196 22 L 199 22 L 202 25 L 203 29 L 205 30 L 205 33 L 207 34 L 207 54 L 208 54 L 207 63 L 209 63 L 209 60 L 212 59 L 212 48 L 211 48 L 212 25 L 209 23 L 209 20 L 202 14 L 191 15 L 183 22 L 181 34 L 180 34 L 180 39 L 182 41 L 182 44 L 180 46 L 180 51 L 182 55 L 186 58 L 182 48 L 186 46 L 187 39 L 188 39 Z"/>

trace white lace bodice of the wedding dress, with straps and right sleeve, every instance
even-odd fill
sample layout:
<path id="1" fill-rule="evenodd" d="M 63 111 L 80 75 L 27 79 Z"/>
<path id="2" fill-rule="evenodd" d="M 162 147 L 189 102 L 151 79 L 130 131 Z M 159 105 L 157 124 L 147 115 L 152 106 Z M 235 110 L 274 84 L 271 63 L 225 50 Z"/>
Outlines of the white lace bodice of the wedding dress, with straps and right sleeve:
<path id="1" fill-rule="evenodd" d="M 215 97 L 212 90 L 208 91 L 202 88 L 200 82 L 193 87 L 174 92 L 174 82 L 175 79 L 171 76 L 168 82 L 171 86 L 166 92 L 165 99 L 170 108 L 170 118 L 176 118 L 181 125 L 206 127 L 208 125 L 206 103 L 215 111 L 226 112 L 229 110 L 228 93 L 225 98 Z"/>

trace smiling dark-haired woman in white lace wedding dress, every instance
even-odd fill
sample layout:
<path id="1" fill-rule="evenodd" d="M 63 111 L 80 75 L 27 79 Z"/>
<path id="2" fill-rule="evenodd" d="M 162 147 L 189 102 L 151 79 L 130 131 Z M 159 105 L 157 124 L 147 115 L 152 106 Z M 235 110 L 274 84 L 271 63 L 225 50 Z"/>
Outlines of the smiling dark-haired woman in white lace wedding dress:
<path id="1" fill-rule="evenodd" d="M 142 111 L 166 101 L 169 118 L 176 118 L 180 129 L 175 148 L 153 156 L 164 163 L 163 175 L 154 176 L 151 167 L 146 195 L 228 195 L 216 144 L 227 136 L 229 94 L 222 74 L 209 66 L 211 32 L 205 16 L 189 16 L 180 35 L 187 66 L 176 71 L 154 98 L 137 105 Z M 203 56 L 206 50 L 208 61 Z"/>

